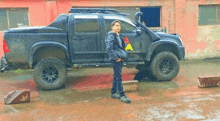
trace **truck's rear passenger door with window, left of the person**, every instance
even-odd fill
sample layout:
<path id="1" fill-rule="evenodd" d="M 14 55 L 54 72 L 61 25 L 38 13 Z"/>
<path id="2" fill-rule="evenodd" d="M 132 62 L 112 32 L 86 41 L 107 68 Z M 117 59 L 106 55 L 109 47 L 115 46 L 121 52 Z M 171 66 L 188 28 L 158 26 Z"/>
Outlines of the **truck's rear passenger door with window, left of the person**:
<path id="1" fill-rule="evenodd" d="M 73 63 L 100 63 L 103 60 L 97 15 L 71 15 L 69 43 Z"/>

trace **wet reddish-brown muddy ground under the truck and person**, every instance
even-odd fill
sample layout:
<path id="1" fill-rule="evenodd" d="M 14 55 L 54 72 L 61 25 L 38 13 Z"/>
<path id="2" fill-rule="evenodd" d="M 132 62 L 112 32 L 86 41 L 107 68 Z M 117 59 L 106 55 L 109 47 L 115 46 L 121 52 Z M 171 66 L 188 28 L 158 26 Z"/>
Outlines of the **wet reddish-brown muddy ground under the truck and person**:
<path id="1" fill-rule="evenodd" d="M 123 68 L 124 81 L 138 71 Z M 111 68 L 72 69 L 68 81 L 59 90 L 41 91 L 32 71 L 0 74 L 0 121 L 175 121 L 220 120 L 220 88 L 198 88 L 198 76 L 220 75 L 220 60 L 181 62 L 181 70 L 172 81 L 139 82 L 137 91 L 126 92 L 132 102 L 125 104 L 110 98 Z M 4 104 L 12 90 L 29 89 L 31 102 Z"/>

